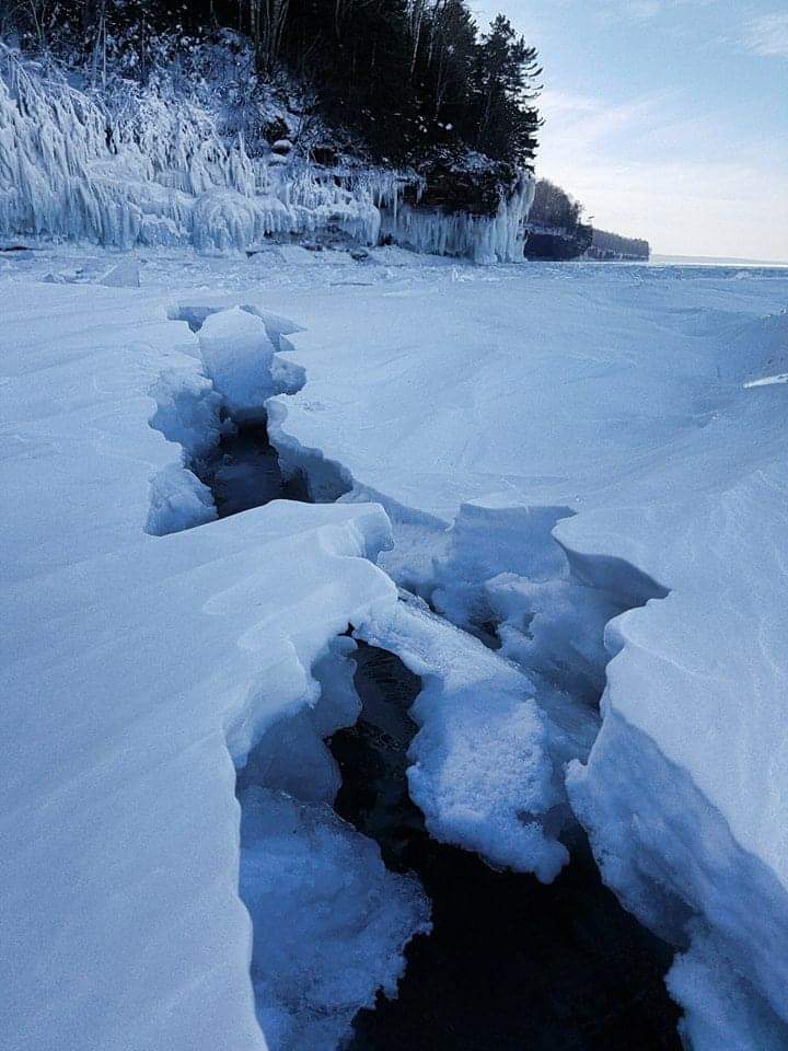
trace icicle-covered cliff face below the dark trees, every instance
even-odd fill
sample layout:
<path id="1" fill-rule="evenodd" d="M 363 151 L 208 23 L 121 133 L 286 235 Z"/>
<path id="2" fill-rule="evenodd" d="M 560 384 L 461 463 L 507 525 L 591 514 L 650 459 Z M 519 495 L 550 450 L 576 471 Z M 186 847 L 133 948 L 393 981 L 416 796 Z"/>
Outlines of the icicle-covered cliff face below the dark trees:
<path id="1" fill-rule="evenodd" d="M 322 170 L 270 151 L 252 158 L 195 97 L 127 84 L 123 105 L 45 76 L 0 44 L 0 235 L 115 247 L 242 251 L 265 238 L 329 235 L 482 262 L 522 257 L 533 181 L 496 215 L 399 205 L 397 173 Z M 275 143 L 276 146 L 277 143 Z"/>

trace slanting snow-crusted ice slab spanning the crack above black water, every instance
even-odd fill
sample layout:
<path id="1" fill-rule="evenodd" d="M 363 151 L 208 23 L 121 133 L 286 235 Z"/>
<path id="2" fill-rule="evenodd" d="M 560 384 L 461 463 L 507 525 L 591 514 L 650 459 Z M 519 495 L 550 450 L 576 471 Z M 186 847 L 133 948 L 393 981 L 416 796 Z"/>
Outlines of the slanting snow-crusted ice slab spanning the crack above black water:
<path id="1" fill-rule="evenodd" d="M 556 839 L 563 793 L 533 686 L 444 621 L 399 603 L 360 635 L 395 652 L 425 685 L 408 758 L 410 796 L 437 839 L 549 882 L 568 861 Z"/>

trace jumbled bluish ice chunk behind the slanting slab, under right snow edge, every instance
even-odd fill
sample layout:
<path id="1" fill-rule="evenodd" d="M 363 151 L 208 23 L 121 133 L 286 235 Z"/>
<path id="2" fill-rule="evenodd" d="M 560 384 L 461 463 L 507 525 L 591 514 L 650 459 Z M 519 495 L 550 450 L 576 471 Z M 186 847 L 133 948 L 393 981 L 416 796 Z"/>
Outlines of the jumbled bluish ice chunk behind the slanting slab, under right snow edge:
<path id="1" fill-rule="evenodd" d="M 506 494 L 464 504 L 434 561 L 432 602 L 453 623 L 499 646 L 533 684 L 546 716 L 553 766 L 584 759 L 599 728 L 596 705 L 613 593 L 578 582 L 552 533 L 563 507 L 523 507 Z M 554 827 L 571 823 L 566 799 Z"/>

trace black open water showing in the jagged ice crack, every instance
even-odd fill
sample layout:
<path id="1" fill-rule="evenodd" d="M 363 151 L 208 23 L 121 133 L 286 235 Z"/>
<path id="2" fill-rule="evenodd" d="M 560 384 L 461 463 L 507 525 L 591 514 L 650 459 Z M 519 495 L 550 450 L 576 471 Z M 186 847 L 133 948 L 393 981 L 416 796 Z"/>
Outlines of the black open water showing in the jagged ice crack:
<path id="1" fill-rule="evenodd" d="M 194 466 L 222 518 L 309 500 L 303 478 L 282 478 L 265 424 L 228 434 Z M 588 852 L 544 887 L 429 839 L 405 775 L 420 681 L 384 650 L 361 644 L 355 659 L 363 709 L 328 742 L 343 775 L 335 809 L 391 869 L 418 875 L 434 929 L 408 946 L 398 998 L 357 1015 L 348 1051 L 680 1051 L 662 983 L 671 952 L 602 886 Z"/>

